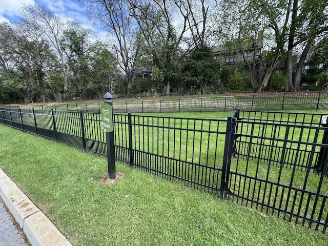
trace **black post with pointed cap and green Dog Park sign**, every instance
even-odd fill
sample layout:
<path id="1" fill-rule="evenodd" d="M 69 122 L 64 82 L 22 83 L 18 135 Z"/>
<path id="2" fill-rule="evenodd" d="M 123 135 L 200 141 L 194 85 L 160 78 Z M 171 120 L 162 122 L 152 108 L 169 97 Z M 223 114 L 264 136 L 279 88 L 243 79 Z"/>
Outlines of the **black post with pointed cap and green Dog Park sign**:
<path id="1" fill-rule="evenodd" d="M 111 93 L 106 92 L 104 99 L 104 104 L 100 106 L 101 129 L 106 132 L 108 177 L 114 179 L 116 177 L 116 166 Z"/>

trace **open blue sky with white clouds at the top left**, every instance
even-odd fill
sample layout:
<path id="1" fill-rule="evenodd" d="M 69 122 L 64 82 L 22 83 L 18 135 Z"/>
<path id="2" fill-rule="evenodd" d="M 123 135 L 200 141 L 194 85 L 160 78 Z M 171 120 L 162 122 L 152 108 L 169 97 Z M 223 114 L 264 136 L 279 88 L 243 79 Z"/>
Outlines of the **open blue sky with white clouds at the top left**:
<path id="1" fill-rule="evenodd" d="M 74 20 L 85 28 L 94 30 L 98 37 L 101 33 L 96 31 L 87 17 L 86 9 L 78 0 L 0 0 L 0 23 L 13 22 L 19 18 L 19 8 L 26 5 L 42 4 L 61 19 Z"/>

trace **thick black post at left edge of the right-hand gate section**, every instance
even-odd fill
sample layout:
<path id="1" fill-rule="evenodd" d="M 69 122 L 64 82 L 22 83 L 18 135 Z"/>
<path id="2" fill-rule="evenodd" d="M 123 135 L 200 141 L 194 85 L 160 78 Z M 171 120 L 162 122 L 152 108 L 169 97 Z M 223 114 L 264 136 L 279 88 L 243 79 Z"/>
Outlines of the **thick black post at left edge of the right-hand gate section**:
<path id="1" fill-rule="evenodd" d="M 227 120 L 226 141 L 224 142 L 224 155 L 221 174 L 220 197 L 226 198 L 230 192 L 229 190 L 229 175 L 231 158 L 234 145 L 236 118 L 229 116 Z"/>

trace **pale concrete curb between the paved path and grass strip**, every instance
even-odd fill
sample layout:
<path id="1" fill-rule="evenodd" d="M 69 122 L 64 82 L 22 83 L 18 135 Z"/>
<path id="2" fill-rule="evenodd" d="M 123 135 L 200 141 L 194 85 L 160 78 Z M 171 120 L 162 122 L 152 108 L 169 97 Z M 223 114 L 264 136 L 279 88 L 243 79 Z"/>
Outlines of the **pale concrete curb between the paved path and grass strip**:
<path id="1" fill-rule="evenodd" d="M 1 169 L 0 196 L 33 246 L 72 246 Z"/>

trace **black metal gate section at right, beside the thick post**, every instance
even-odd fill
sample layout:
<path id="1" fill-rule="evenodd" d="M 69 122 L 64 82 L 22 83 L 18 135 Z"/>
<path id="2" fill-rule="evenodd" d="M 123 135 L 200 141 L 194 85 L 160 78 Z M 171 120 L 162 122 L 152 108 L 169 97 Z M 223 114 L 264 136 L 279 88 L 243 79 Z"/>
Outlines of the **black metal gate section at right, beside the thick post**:
<path id="1" fill-rule="evenodd" d="M 240 111 L 228 197 L 325 232 L 328 125 L 322 116 Z"/>

